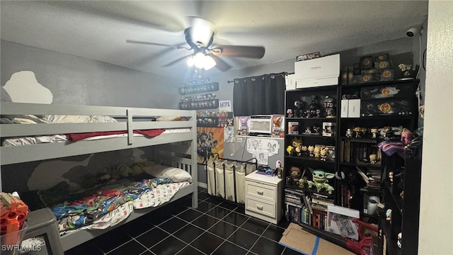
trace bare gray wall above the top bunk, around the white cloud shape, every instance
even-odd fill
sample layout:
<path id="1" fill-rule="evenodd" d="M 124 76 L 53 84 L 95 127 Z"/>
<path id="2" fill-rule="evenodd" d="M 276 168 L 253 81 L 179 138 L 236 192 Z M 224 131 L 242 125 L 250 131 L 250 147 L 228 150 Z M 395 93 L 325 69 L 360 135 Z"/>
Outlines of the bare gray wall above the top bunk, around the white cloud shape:
<path id="1" fill-rule="evenodd" d="M 33 71 L 53 103 L 178 108 L 178 79 L 1 40 L 1 86 Z"/>

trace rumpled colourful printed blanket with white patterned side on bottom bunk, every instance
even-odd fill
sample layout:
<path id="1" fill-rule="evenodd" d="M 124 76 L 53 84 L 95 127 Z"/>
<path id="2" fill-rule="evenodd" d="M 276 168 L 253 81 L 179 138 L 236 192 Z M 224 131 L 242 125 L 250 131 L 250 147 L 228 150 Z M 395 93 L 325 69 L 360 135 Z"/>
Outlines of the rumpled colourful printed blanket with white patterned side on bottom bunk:
<path id="1" fill-rule="evenodd" d="M 99 188 L 78 200 L 53 206 L 59 231 L 105 229 L 129 217 L 133 210 L 162 205 L 188 186 L 188 181 L 173 183 L 169 178 L 122 180 Z M 78 194 L 80 196 L 80 194 Z"/>

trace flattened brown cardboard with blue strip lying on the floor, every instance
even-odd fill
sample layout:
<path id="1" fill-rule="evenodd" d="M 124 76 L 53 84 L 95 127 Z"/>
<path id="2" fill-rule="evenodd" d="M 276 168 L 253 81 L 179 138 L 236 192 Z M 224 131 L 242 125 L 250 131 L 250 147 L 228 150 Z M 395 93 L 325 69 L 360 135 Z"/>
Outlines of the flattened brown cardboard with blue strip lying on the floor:
<path id="1" fill-rule="evenodd" d="M 297 224 L 291 223 L 283 232 L 280 244 L 302 254 L 316 255 L 353 255 L 351 251 L 332 244 L 316 235 L 306 232 Z"/>

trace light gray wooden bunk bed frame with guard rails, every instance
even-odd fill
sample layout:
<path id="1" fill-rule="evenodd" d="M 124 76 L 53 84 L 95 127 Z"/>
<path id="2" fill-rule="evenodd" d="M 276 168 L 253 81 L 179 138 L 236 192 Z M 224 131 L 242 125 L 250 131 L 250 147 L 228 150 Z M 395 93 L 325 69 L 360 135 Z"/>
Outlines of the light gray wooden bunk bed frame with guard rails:
<path id="1" fill-rule="evenodd" d="M 195 111 L 158 109 L 158 108 L 129 108 L 110 106 L 76 106 L 59 104 L 35 103 L 1 103 L 2 116 L 107 116 L 115 121 L 106 123 L 51 123 L 36 124 L 0 124 L 1 139 L 8 140 L 15 137 L 40 137 L 69 134 L 101 134 L 100 139 L 92 135 L 75 140 L 48 140 L 42 143 L 18 146 L 0 147 L 1 166 L 35 162 L 46 159 L 58 159 L 98 152 L 112 152 L 122 149 L 150 147 L 151 160 L 164 166 L 172 166 L 187 171 L 192 177 L 191 183 L 183 186 L 164 205 L 176 202 L 179 198 L 192 195 L 192 207 L 197 208 L 197 135 Z M 48 120 L 48 118 L 47 118 Z M 156 121 L 161 120 L 161 121 Z M 33 122 L 35 123 L 35 122 Z M 144 130 L 143 134 L 136 134 L 137 130 Z M 157 130 L 157 132 L 154 132 Z M 149 135 L 151 131 L 151 135 Z M 106 135 L 105 132 L 115 132 L 116 135 Z M 118 135 L 118 133 L 120 133 Z M 153 135 L 154 134 L 154 135 Z M 3 180 L 8 181 L 8 180 Z M 1 191 L 0 173 L 0 191 Z M 176 202 L 178 203 L 178 202 Z M 119 224 L 105 230 L 77 229 L 60 237 L 63 249 L 66 251 L 82 244 L 105 231 L 114 229 L 126 222 L 137 219 L 158 207 L 149 207 L 133 210 L 132 213 Z"/>

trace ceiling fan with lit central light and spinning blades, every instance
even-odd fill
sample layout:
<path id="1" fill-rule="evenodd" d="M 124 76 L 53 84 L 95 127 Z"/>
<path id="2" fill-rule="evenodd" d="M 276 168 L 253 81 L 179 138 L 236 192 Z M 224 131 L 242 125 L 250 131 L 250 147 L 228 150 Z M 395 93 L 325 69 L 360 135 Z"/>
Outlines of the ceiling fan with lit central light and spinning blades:
<path id="1" fill-rule="evenodd" d="M 145 45 L 158 45 L 165 47 L 173 47 L 176 49 L 193 50 L 190 55 L 180 57 L 173 62 L 165 64 L 164 67 L 169 67 L 181 60 L 188 60 L 193 62 L 195 67 L 210 69 L 216 66 L 222 72 L 231 69 L 231 65 L 226 63 L 220 57 L 246 57 L 253 59 L 260 59 L 264 56 L 265 48 L 263 46 L 240 46 L 240 45 L 216 45 L 214 44 L 214 30 L 213 24 L 210 21 L 200 17 L 193 18 L 192 25 L 185 28 L 185 42 L 188 47 L 166 45 L 156 42 L 144 42 L 138 40 L 126 40 L 130 43 L 138 43 Z"/>

